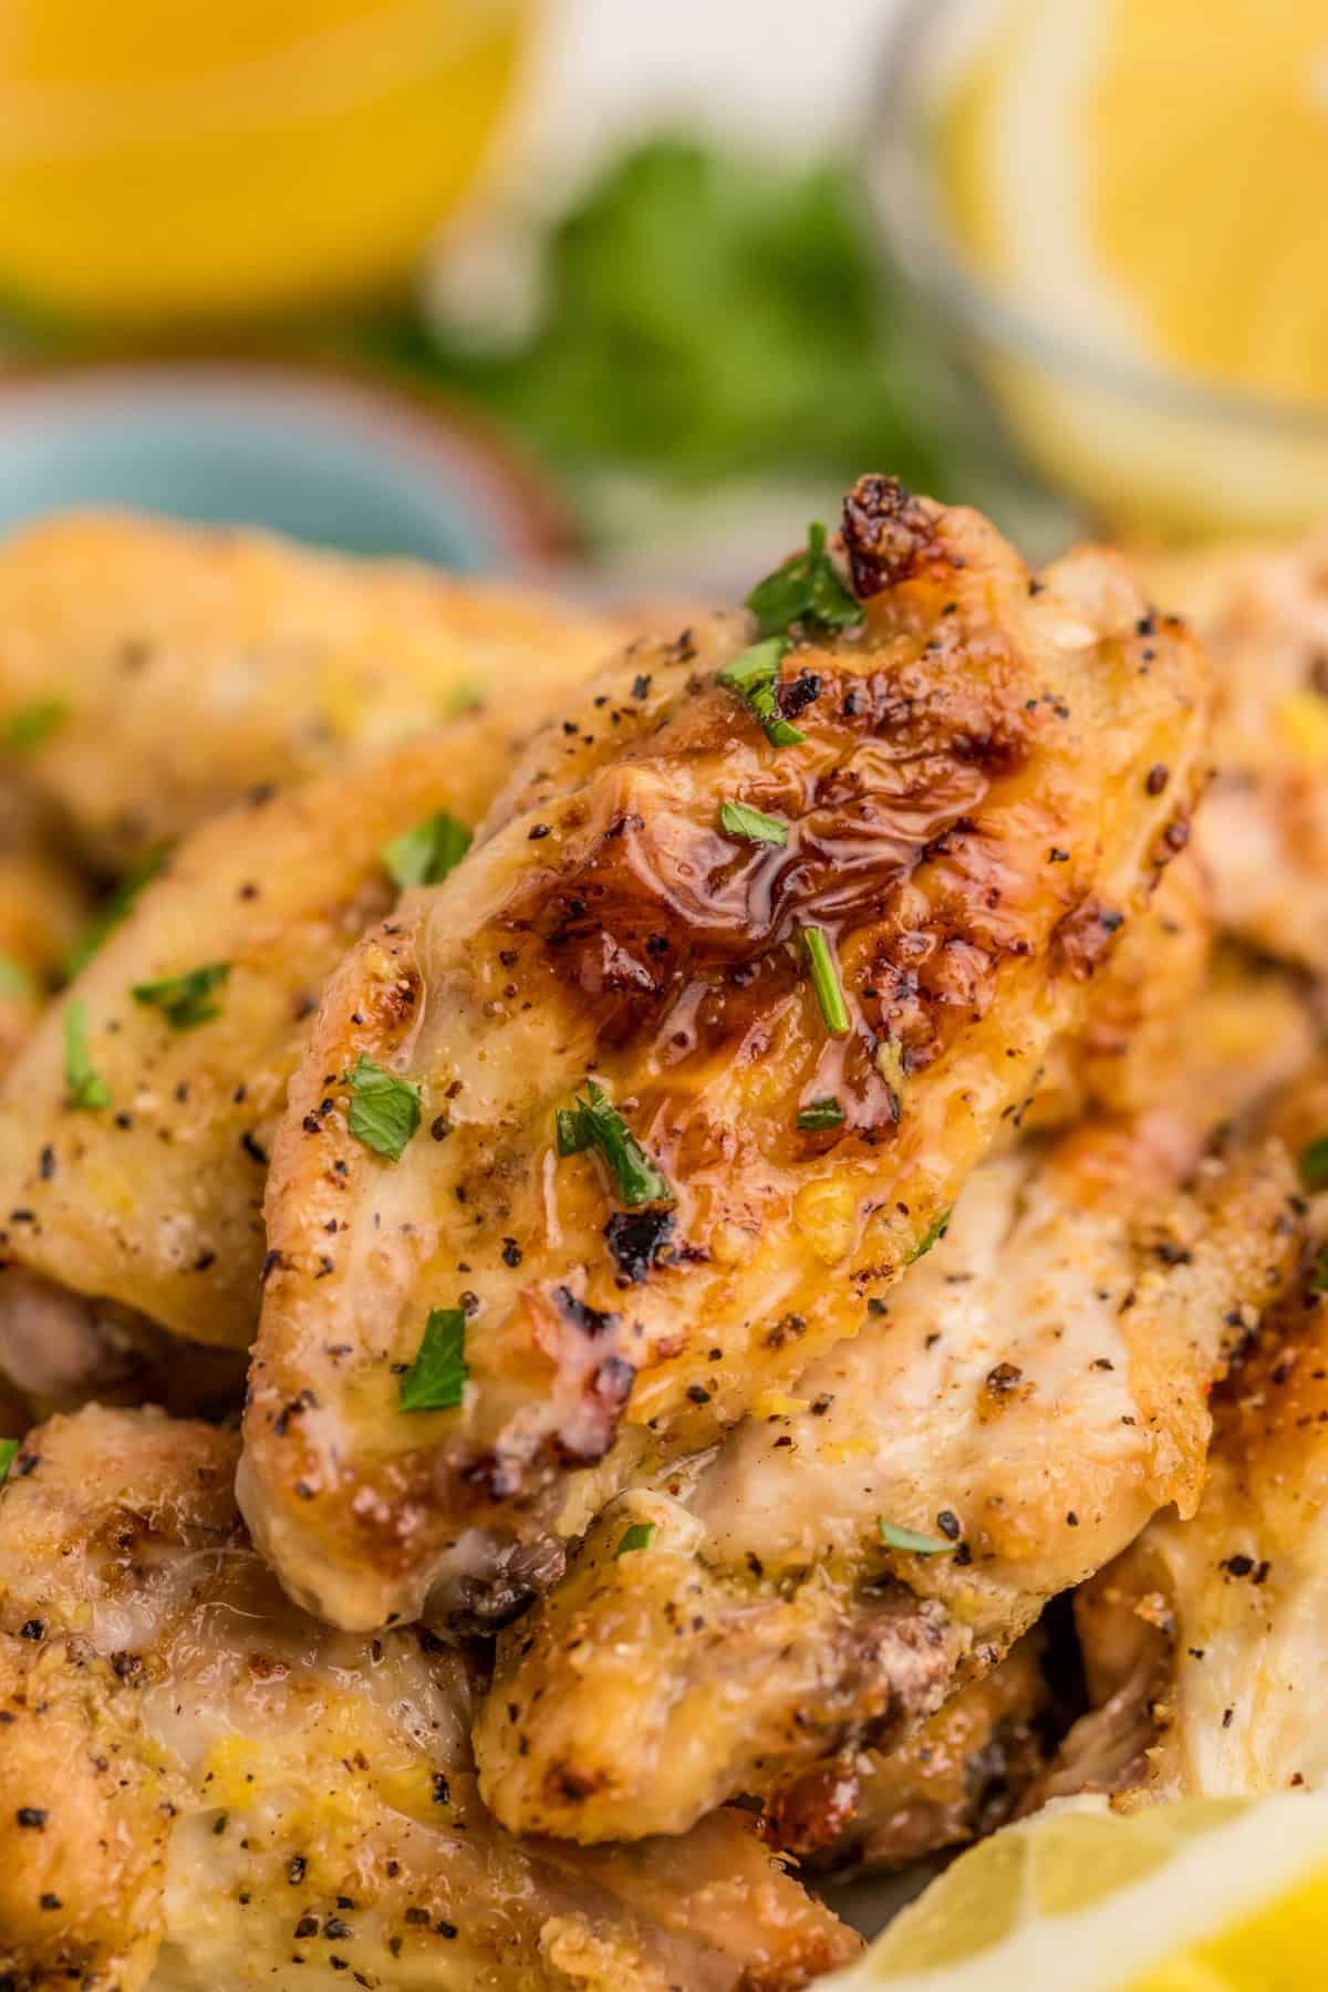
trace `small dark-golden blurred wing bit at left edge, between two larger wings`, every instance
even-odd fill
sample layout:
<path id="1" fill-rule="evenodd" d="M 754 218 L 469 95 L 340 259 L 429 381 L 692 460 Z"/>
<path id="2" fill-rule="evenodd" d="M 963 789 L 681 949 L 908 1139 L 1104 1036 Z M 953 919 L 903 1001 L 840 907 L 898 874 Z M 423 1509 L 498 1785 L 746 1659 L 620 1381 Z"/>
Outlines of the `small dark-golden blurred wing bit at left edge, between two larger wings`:
<path id="1" fill-rule="evenodd" d="M 0 1076 L 32 1036 L 84 924 L 88 894 L 48 835 L 42 813 L 0 793 Z"/>

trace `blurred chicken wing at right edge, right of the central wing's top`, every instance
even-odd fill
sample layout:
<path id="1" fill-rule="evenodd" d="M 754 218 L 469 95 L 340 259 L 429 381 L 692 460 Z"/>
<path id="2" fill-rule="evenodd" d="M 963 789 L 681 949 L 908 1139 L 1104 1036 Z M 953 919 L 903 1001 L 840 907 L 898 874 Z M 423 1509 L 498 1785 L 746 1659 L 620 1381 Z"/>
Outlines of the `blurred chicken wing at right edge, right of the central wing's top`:
<path id="1" fill-rule="evenodd" d="M 1222 924 L 1328 974 L 1328 532 L 1155 562 L 1215 665 L 1217 781 L 1197 845 Z"/>

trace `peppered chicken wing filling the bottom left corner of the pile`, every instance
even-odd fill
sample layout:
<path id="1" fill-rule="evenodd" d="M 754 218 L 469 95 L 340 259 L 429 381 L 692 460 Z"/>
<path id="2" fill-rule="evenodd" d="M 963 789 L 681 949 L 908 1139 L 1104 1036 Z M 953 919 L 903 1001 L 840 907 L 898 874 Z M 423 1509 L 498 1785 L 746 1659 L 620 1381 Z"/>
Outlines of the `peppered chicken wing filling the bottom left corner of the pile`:
<path id="1" fill-rule="evenodd" d="M 0 1492 L 0 1978 L 36 1992 L 778 1992 L 856 1938 L 717 1813 L 522 1847 L 476 1797 L 462 1655 L 287 1604 L 235 1442 L 92 1406 Z"/>

